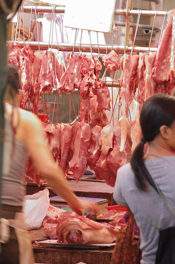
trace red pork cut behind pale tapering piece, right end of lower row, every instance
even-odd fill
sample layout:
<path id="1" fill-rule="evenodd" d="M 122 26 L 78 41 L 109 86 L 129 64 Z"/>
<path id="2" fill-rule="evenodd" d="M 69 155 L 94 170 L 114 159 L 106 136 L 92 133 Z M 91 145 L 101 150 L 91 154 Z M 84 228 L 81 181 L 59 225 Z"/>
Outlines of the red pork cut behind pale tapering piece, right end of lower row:
<path id="1" fill-rule="evenodd" d="M 114 175 L 117 175 L 117 170 L 125 163 L 129 162 L 131 157 L 131 141 L 127 135 L 124 150 L 120 152 L 120 138 L 121 128 L 119 126 L 114 127 L 113 148 L 107 157 L 107 163 Z"/>

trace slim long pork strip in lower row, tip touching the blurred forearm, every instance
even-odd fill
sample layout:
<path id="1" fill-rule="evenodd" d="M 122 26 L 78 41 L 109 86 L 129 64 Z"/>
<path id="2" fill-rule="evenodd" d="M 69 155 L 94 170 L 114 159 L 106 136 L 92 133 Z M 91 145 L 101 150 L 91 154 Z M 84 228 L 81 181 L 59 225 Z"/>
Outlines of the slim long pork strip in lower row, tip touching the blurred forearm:
<path id="1" fill-rule="evenodd" d="M 70 141 L 72 138 L 72 127 L 61 123 L 60 128 L 60 145 L 61 145 L 61 160 L 60 167 L 65 172 L 67 170 L 67 156 L 69 152 Z"/>

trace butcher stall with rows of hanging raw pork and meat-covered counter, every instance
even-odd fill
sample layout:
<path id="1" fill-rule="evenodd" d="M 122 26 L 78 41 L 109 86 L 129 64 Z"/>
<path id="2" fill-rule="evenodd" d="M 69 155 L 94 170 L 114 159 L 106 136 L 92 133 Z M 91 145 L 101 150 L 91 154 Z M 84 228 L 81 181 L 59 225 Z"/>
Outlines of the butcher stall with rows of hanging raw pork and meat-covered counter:
<path id="1" fill-rule="evenodd" d="M 26 218 L 36 263 L 110 262 L 128 221 L 112 197 L 117 170 L 141 140 L 143 103 L 170 94 L 175 84 L 170 1 L 88 3 L 22 1 L 8 23 L 8 63 L 18 68 L 25 91 L 20 107 L 43 122 L 67 184 L 100 208 L 98 215 L 86 208 L 76 215 L 27 157 L 26 203 L 34 200 L 32 210 L 41 212 L 32 213 L 35 225 Z M 133 229 L 135 254 L 138 241 Z"/>

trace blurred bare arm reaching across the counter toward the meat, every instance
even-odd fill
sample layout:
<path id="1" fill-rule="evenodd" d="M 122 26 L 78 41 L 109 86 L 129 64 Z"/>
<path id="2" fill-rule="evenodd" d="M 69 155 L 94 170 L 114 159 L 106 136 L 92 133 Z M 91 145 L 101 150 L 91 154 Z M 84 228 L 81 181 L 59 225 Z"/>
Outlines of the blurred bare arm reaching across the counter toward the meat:
<path id="1" fill-rule="evenodd" d="M 49 181 L 55 193 L 61 196 L 70 205 L 71 209 L 81 214 L 79 209 L 90 209 L 97 212 L 98 207 L 89 202 L 82 202 L 71 190 L 63 171 L 56 165 L 44 137 L 43 125 L 37 116 L 30 112 L 22 111 L 21 130 L 27 151 L 34 164 Z M 21 126 L 20 125 L 20 126 Z"/>

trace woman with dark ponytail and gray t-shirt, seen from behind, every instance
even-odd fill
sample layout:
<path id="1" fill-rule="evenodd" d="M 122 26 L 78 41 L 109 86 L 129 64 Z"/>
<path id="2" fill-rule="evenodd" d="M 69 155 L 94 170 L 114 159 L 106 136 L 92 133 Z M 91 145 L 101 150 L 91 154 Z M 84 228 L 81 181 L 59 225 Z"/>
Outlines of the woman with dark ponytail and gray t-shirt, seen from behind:
<path id="1" fill-rule="evenodd" d="M 140 125 L 141 142 L 130 163 L 117 171 L 113 197 L 127 207 L 140 231 L 141 264 L 155 264 L 159 230 L 175 226 L 174 217 L 151 180 L 175 210 L 175 97 L 150 97 L 143 104 Z"/>

